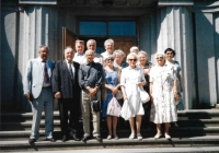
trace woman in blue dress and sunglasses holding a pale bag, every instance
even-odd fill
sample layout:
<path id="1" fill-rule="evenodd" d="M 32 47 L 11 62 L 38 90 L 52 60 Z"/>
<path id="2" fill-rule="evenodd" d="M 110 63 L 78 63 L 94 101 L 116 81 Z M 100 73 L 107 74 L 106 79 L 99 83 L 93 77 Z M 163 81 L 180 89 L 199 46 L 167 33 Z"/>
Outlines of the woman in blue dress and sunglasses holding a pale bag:
<path id="1" fill-rule="evenodd" d="M 112 139 L 112 127 L 113 127 L 113 136 L 114 139 L 118 139 L 116 134 L 116 126 L 117 126 L 117 117 L 116 116 L 108 116 L 106 114 L 107 111 L 107 106 L 111 99 L 113 98 L 113 95 L 115 95 L 118 92 L 118 89 L 120 86 L 119 81 L 120 81 L 120 69 L 115 68 L 113 66 L 114 62 L 114 56 L 113 55 L 107 55 L 104 58 L 106 67 L 104 68 L 105 71 L 105 85 L 104 87 L 107 90 L 106 93 L 104 92 L 103 94 L 105 95 L 103 101 L 103 109 L 102 109 L 102 117 L 106 117 L 106 123 L 108 127 L 108 137 L 107 139 Z"/>

